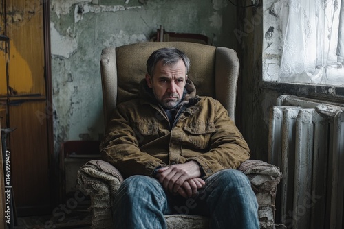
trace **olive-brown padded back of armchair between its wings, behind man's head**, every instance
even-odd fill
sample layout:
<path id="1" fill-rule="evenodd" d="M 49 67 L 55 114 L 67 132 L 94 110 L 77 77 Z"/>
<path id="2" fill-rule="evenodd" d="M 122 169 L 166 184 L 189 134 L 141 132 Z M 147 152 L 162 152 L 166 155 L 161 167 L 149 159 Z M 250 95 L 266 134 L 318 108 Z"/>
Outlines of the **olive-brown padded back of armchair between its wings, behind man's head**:
<path id="1" fill-rule="evenodd" d="M 188 75 L 197 88 L 197 95 L 215 97 L 215 77 L 213 76 L 216 47 L 180 42 L 137 43 L 116 48 L 118 103 L 138 97 L 138 85 L 147 72 L 147 59 L 153 51 L 162 47 L 175 47 L 184 51 L 191 61 Z M 195 49 L 200 52 L 196 54 Z"/>

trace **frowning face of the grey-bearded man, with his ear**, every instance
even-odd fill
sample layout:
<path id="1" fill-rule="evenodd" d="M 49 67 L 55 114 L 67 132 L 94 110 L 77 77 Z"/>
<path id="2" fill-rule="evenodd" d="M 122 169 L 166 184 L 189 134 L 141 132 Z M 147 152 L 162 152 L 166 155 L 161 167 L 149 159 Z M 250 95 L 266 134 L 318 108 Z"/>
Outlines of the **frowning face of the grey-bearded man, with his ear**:
<path id="1" fill-rule="evenodd" d="M 180 103 L 186 79 L 186 68 L 182 60 L 171 65 L 164 65 L 160 61 L 155 66 L 153 76 L 146 74 L 149 88 L 152 88 L 155 98 L 166 109 L 174 108 Z"/>

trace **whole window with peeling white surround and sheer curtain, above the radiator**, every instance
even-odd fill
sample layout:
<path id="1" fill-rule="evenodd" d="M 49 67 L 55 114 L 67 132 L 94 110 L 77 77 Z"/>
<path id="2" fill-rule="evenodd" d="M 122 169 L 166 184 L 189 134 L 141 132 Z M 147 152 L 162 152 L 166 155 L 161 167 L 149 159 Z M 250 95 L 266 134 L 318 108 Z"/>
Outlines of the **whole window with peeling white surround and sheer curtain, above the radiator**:
<path id="1" fill-rule="evenodd" d="M 344 85 L 344 0 L 267 0 L 263 79 Z"/>

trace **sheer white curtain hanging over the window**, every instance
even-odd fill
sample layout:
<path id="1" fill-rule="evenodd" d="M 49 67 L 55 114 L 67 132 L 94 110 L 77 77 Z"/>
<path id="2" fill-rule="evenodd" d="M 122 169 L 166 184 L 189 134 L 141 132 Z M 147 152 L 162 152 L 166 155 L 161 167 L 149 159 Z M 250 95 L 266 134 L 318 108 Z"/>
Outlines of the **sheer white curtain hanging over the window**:
<path id="1" fill-rule="evenodd" d="M 344 30 L 340 29 L 344 23 L 339 23 L 340 17 L 344 19 L 344 13 L 340 15 L 344 0 L 281 1 L 279 81 L 341 84 L 339 79 L 344 83 L 344 69 L 338 63 L 344 54 Z"/>

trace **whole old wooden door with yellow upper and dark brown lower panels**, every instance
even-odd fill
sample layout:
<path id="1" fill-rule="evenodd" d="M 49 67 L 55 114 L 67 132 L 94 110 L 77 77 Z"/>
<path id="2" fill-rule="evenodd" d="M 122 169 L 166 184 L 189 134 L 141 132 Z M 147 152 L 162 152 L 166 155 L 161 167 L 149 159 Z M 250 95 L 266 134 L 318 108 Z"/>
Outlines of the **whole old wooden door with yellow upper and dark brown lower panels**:
<path id="1" fill-rule="evenodd" d="M 18 215 L 51 211 L 52 153 L 48 17 L 49 1 L 2 0 L 1 34 L 10 38 L 0 53 L 0 116 L 10 134 L 12 189 Z M 3 62 L 7 73 L 3 73 Z M 4 86 L 6 84 L 6 86 Z"/>

